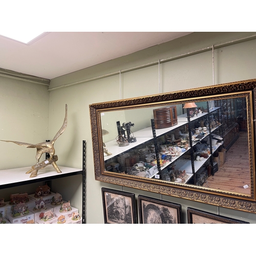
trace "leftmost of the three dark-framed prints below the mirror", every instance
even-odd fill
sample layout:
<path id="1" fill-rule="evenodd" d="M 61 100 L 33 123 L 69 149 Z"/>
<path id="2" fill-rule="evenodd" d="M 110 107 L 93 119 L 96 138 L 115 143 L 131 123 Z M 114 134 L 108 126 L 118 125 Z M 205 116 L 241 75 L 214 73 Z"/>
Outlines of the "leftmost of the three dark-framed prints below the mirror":
<path id="1" fill-rule="evenodd" d="M 135 194 L 102 187 L 105 224 L 136 224 Z"/>

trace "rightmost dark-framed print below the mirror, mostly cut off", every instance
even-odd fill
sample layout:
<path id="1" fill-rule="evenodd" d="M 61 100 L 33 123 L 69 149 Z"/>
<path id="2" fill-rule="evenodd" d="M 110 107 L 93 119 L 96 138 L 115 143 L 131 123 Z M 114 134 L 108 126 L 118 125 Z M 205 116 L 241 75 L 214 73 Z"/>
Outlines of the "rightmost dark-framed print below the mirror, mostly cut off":
<path id="1" fill-rule="evenodd" d="M 249 224 L 249 222 L 236 220 L 210 212 L 187 208 L 187 223 L 188 224 Z"/>

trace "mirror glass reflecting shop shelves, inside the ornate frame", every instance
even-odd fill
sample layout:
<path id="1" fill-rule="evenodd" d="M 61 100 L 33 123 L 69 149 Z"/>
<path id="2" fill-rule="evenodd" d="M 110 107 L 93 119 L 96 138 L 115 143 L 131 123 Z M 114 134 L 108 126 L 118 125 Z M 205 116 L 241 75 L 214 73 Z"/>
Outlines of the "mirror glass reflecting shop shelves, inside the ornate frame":
<path id="1" fill-rule="evenodd" d="M 205 99 L 100 111 L 103 173 L 251 195 L 248 94 Z"/>

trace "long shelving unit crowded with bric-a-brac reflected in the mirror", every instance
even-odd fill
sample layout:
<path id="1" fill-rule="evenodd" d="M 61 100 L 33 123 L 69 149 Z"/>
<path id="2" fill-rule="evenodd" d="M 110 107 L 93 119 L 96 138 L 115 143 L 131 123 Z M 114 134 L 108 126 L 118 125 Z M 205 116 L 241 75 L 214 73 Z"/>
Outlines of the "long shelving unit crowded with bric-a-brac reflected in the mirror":
<path id="1" fill-rule="evenodd" d="M 185 170 L 183 184 L 201 185 L 197 173 L 201 173 L 203 166 L 211 165 L 210 172 L 214 175 L 212 156 L 218 152 L 222 144 L 212 145 L 212 141 L 217 141 L 212 135 L 221 135 L 218 131 L 222 126 L 220 107 L 209 108 L 209 103 L 204 103 L 203 111 L 189 118 L 187 114 L 178 115 L 177 123 L 170 127 L 156 129 L 155 121 L 151 119 L 152 125 L 134 132 L 136 141 L 127 146 L 118 146 L 117 140 L 105 142 L 105 147 L 111 153 L 104 155 L 105 171 L 177 182 L 172 173 L 175 170 Z M 198 128 L 204 131 L 199 130 L 198 133 Z M 165 155 L 162 152 L 164 146 L 169 153 L 170 148 L 177 152 L 172 152 L 172 156 L 169 157 L 169 153 Z M 197 161 L 196 158 L 200 155 L 200 161 Z M 146 158 L 151 156 L 152 160 L 148 162 Z"/>

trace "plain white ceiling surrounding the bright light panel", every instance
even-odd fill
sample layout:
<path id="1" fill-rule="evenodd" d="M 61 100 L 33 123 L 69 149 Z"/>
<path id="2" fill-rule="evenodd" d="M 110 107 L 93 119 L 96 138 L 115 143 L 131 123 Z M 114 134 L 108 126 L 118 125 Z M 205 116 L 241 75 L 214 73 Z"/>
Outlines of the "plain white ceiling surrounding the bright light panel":
<path id="1" fill-rule="evenodd" d="M 26 45 L 0 35 L 0 68 L 52 79 L 192 32 L 47 32 Z"/>

